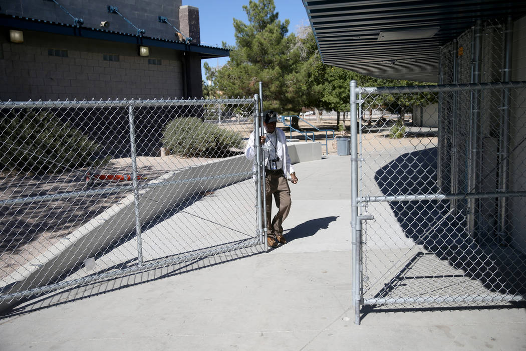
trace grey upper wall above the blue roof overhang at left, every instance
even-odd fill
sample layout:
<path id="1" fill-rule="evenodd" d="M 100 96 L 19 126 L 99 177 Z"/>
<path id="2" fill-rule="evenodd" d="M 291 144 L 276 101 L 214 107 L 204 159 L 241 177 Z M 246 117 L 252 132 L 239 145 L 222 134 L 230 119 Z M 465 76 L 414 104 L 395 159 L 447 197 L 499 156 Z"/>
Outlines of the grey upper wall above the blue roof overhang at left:
<path id="1" fill-rule="evenodd" d="M 108 5 L 116 6 L 119 12 L 129 19 L 136 27 L 145 29 L 145 35 L 153 38 L 169 40 L 177 39 L 175 31 L 166 23 L 159 23 L 158 17 L 164 16 L 176 28 L 179 28 L 179 7 L 181 0 L 59 0 L 74 17 L 84 19 L 84 27 L 100 28 L 100 22 L 109 21 L 110 31 L 137 34 L 137 30 L 130 26 L 124 18 L 117 14 L 108 13 Z M 44 19 L 58 23 L 73 24 L 73 18 L 68 16 L 54 2 L 45 0 L 3 0 L 0 12 Z"/>

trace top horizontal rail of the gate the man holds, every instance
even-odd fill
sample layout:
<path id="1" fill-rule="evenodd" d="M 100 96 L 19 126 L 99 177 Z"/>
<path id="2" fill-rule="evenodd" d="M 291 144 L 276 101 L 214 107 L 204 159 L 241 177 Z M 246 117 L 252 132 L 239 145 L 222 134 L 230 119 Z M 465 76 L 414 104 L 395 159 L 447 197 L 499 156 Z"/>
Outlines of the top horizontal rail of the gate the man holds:
<path id="1" fill-rule="evenodd" d="M 160 99 L 160 100 L 57 100 L 57 101 L 0 101 L 0 108 L 22 107 L 122 107 L 122 106 L 188 106 L 214 104 L 252 104 L 255 98 L 231 99 Z"/>

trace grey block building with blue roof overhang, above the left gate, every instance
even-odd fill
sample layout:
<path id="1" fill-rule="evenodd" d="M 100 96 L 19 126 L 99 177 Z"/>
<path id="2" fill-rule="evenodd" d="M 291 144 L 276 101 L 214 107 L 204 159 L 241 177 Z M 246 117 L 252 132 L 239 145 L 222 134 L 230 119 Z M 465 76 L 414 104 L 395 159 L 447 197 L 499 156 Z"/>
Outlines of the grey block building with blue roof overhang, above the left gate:
<path id="1" fill-rule="evenodd" d="M 181 5 L 3 1 L 0 100 L 201 97 L 201 59 L 228 50 L 200 45 L 199 9 Z"/>

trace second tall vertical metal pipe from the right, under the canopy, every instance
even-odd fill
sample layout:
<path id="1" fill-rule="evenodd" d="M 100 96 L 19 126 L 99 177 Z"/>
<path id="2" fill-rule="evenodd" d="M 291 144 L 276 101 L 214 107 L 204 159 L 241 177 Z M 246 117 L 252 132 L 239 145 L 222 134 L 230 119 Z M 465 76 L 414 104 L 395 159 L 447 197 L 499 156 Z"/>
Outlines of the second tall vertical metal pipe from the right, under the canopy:
<path id="1" fill-rule="evenodd" d="M 482 57 L 482 21 L 480 19 L 477 19 L 473 31 L 472 57 L 471 83 L 480 83 L 482 77 L 480 62 Z M 482 181 L 482 162 L 480 161 L 482 155 L 480 98 L 481 92 L 479 90 L 471 91 L 470 157 L 468 157 L 468 192 L 470 193 L 478 193 Z M 476 217 L 480 216 L 479 204 L 479 199 L 468 199 L 468 233 L 470 233 L 473 238 L 477 235 L 477 224 L 479 220 L 477 220 Z"/>

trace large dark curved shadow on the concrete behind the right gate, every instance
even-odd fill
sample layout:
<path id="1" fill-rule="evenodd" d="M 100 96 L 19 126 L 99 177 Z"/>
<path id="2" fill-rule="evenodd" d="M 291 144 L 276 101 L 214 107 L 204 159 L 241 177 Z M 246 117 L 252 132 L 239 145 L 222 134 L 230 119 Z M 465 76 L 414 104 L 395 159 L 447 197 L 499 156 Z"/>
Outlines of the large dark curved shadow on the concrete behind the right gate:
<path id="1" fill-rule="evenodd" d="M 375 181 L 386 195 L 437 193 L 437 148 L 400 155 L 378 169 Z M 453 216 L 449 200 L 389 203 L 406 237 L 447 260 L 490 292 L 526 294 L 526 257 L 512 245 L 479 245 L 466 231 L 464 217 Z M 462 274 L 459 272 L 460 274 Z"/>

